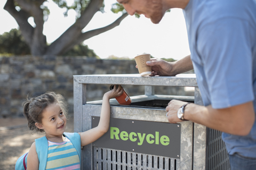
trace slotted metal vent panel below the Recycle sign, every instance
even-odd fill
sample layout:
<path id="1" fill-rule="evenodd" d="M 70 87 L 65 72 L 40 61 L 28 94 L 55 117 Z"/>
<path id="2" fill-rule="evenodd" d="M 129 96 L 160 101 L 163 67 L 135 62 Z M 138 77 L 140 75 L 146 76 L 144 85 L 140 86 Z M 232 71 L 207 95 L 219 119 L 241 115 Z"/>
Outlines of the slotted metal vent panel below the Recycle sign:
<path id="1" fill-rule="evenodd" d="M 93 147 L 94 170 L 180 170 L 180 159 Z"/>

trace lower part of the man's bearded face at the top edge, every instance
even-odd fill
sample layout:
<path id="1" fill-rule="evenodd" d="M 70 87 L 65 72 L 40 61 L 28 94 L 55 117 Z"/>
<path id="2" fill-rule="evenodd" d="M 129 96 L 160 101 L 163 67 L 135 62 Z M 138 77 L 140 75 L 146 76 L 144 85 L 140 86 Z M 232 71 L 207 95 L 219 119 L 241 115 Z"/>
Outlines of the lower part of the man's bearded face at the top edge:
<path id="1" fill-rule="evenodd" d="M 162 0 L 117 0 L 125 7 L 129 15 L 143 14 L 153 23 L 159 23 L 166 10 L 163 9 Z"/>

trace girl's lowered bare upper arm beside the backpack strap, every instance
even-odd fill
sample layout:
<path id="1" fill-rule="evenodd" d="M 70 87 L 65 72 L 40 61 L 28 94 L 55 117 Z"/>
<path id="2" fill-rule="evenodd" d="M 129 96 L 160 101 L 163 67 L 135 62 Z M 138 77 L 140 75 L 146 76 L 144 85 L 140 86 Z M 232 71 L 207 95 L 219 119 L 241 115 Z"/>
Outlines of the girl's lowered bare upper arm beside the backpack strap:
<path id="1" fill-rule="evenodd" d="M 36 152 L 36 143 L 32 143 L 27 156 L 27 170 L 38 170 L 39 160 Z"/>

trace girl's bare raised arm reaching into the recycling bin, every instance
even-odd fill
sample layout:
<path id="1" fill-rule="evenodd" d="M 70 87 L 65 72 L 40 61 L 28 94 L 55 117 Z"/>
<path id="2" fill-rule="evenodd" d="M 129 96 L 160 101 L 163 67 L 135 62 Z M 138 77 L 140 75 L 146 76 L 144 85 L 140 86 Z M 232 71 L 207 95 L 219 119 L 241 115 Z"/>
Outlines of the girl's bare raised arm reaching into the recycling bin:
<path id="1" fill-rule="evenodd" d="M 102 99 L 100 122 L 98 126 L 85 132 L 79 133 L 81 137 L 81 146 L 85 146 L 88 145 L 89 143 L 94 142 L 108 131 L 110 121 L 109 99 L 114 98 L 116 96 L 120 96 L 122 94 L 123 88 L 121 89 L 121 86 L 118 86 L 118 89 L 115 86 L 113 90 L 106 92 Z"/>

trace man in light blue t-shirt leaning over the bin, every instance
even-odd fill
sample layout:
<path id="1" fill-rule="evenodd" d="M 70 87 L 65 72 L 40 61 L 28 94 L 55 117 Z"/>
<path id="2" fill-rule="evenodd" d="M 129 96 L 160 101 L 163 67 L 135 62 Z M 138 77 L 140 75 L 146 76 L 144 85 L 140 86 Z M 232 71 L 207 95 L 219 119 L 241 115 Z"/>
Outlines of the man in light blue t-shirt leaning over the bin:
<path id="1" fill-rule="evenodd" d="M 191 55 L 177 62 L 151 60 L 154 75 L 194 68 L 204 106 L 171 100 L 169 122 L 193 121 L 222 131 L 231 169 L 256 169 L 256 1 L 117 0 L 127 13 L 159 23 L 182 8 Z M 178 110 L 184 106 L 184 114 Z"/>

